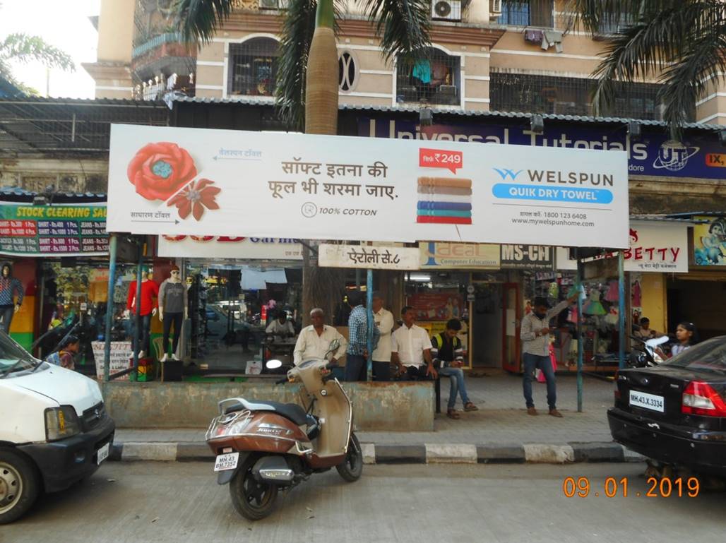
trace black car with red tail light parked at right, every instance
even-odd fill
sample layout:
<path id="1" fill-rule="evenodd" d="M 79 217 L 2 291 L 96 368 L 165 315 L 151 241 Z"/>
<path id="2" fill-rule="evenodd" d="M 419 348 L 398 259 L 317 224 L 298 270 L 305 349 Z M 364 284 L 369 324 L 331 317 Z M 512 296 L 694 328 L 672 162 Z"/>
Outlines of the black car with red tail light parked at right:
<path id="1" fill-rule="evenodd" d="M 645 457 L 726 477 L 726 336 L 620 370 L 608 422 L 615 441 Z"/>

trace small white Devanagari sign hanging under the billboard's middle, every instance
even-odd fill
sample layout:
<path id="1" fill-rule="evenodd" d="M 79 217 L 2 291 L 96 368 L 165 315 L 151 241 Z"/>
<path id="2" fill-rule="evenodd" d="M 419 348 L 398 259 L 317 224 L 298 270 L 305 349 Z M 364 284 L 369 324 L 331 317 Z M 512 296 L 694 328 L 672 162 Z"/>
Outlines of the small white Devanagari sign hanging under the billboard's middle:
<path id="1" fill-rule="evenodd" d="M 334 245 L 318 248 L 318 265 L 329 268 L 418 269 L 418 249 L 381 245 Z"/>

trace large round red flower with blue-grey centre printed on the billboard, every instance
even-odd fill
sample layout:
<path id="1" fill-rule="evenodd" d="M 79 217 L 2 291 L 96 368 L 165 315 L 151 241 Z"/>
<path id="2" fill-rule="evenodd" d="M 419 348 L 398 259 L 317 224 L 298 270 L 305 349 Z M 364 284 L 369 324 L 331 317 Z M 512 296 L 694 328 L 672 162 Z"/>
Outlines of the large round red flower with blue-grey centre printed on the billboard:
<path id="1" fill-rule="evenodd" d="M 166 200 L 197 175 L 189 153 L 176 143 L 158 142 L 142 147 L 126 169 L 136 192 L 147 200 Z"/>

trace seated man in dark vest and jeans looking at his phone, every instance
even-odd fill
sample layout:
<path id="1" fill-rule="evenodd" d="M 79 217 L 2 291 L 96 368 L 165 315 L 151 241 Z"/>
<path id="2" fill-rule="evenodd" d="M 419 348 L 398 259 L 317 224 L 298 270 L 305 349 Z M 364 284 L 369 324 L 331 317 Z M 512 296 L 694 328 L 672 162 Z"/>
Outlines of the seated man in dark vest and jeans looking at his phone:
<path id="1" fill-rule="evenodd" d="M 461 346 L 461 340 L 457 338 L 459 330 L 461 330 L 460 320 L 451 319 L 449 322 L 446 322 L 446 330 L 444 332 L 434 335 L 431 338 L 431 354 L 433 354 L 433 358 L 435 359 L 434 362 L 440 362 L 439 375 L 445 375 L 451 381 L 449 404 L 446 407 L 446 417 L 450 419 L 460 418 L 459 413 L 454 409 L 457 393 L 461 395 L 464 411 L 477 411 L 479 409 L 469 401 L 469 396 L 466 393 L 464 372 L 461 369 L 464 365 L 464 350 Z"/>

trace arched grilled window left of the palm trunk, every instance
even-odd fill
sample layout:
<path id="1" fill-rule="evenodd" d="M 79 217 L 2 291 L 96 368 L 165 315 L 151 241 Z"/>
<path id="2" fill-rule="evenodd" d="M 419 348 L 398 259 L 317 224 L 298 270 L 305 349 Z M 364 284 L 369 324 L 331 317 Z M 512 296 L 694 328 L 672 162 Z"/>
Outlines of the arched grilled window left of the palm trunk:
<path id="1" fill-rule="evenodd" d="M 280 51 L 272 38 L 253 38 L 229 45 L 228 94 L 274 95 Z"/>

